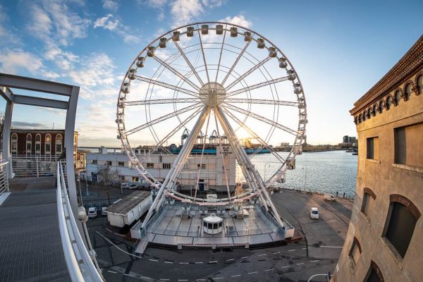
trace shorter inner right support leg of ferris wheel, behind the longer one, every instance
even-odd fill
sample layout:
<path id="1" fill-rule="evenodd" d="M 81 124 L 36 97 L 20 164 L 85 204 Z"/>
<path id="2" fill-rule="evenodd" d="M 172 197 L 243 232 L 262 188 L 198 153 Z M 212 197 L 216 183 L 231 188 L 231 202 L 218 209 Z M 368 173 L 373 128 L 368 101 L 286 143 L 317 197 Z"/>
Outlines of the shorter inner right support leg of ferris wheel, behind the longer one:
<path id="1" fill-rule="evenodd" d="M 263 204 L 263 206 L 266 208 L 266 210 L 269 210 L 266 204 L 266 201 L 264 201 L 262 192 L 259 189 L 259 184 L 257 183 L 256 178 L 252 175 L 251 170 L 248 169 L 245 164 L 246 160 L 243 157 L 243 152 L 245 153 L 244 149 L 242 146 L 240 146 L 239 140 L 236 137 L 235 133 L 233 133 L 233 130 L 230 130 L 227 127 L 227 124 L 222 116 L 219 114 L 219 109 L 214 110 L 214 113 L 216 114 L 217 118 L 219 119 L 222 127 L 223 127 L 223 131 L 225 131 L 226 135 L 228 135 L 229 137 L 229 141 L 231 143 L 231 146 L 233 147 L 233 152 L 235 154 L 235 158 L 238 160 L 238 163 L 240 164 L 240 168 L 243 171 L 243 175 L 245 177 L 245 180 L 247 181 L 248 185 L 250 185 L 250 187 L 252 188 L 252 190 L 257 191 L 258 192 L 258 196 L 259 196 L 259 201 Z"/>

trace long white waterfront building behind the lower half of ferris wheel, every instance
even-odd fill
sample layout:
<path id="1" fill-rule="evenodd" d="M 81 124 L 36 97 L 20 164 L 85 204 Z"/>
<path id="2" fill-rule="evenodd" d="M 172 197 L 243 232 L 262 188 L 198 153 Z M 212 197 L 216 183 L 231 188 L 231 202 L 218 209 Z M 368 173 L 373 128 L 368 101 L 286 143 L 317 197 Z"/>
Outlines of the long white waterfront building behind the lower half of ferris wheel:
<path id="1" fill-rule="evenodd" d="M 223 149 L 223 150 L 222 150 Z M 210 188 L 226 191 L 226 177 L 228 185 L 233 190 L 235 186 L 235 156 L 231 147 L 216 149 L 216 154 L 191 154 L 188 163 L 180 173 L 178 182 L 184 190 L 195 189 L 199 178 L 199 190 Z M 157 180 L 163 181 L 178 156 L 164 153 L 154 153 L 148 156 L 149 149 L 134 149 L 138 159 L 142 161 L 147 171 Z M 135 168 L 130 166 L 128 156 L 121 152 L 110 153 L 106 148 L 100 148 L 99 153 L 87 154 L 87 179 L 97 182 L 101 180 L 118 179 L 121 181 L 140 181 Z M 224 162 L 224 163 L 223 163 Z M 223 165 L 224 164 L 224 165 Z M 226 169 L 226 176 L 223 168 Z M 109 173 L 109 176 L 106 174 Z M 200 177 L 197 177 L 200 173 Z"/>

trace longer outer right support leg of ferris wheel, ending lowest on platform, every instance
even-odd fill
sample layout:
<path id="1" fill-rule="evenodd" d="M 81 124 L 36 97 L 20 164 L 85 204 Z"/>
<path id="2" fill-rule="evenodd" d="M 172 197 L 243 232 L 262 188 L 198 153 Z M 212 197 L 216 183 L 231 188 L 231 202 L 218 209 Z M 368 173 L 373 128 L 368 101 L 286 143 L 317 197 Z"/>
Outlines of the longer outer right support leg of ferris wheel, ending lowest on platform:
<path id="1" fill-rule="evenodd" d="M 233 128 L 231 126 L 231 124 L 228 122 L 228 119 L 226 118 L 225 114 L 223 114 L 223 111 L 221 110 L 221 108 L 217 107 L 217 111 L 219 114 L 219 117 L 221 118 L 221 122 L 223 122 L 223 124 L 225 124 L 226 129 L 228 130 L 228 133 L 230 133 L 232 136 L 236 136 L 235 132 L 233 131 Z M 222 125 L 223 125 L 222 124 Z M 238 145 L 238 147 L 240 146 L 240 142 L 238 139 L 233 140 L 233 142 L 235 143 L 235 145 Z M 244 149 L 241 149 L 240 154 L 243 156 L 243 159 L 245 159 L 246 164 L 249 166 L 249 171 L 251 171 L 251 173 L 253 174 L 253 176 L 255 176 L 255 180 L 257 181 L 257 183 L 259 183 L 259 188 L 262 191 L 264 197 L 266 198 L 271 211 L 274 214 L 274 217 L 276 219 L 276 221 L 278 221 L 278 223 L 283 226 L 283 222 L 281 221 L 281 217 L 278 214 L 278 211 L 276 211 L 276 208 L 273 204 L 273 202 L 270 199 L 269 193 L 267 192 L 266 188 L 264 188 L 264 183 L 261 180 L 261 178 L 259 177 L 259 175 L 257 174 L 257 171 L 255 171 L 255 168 L 252 166 L 252 163 L 250 161 L 250 158 L 248 158 L 247 153 L 245 152 Z"/>

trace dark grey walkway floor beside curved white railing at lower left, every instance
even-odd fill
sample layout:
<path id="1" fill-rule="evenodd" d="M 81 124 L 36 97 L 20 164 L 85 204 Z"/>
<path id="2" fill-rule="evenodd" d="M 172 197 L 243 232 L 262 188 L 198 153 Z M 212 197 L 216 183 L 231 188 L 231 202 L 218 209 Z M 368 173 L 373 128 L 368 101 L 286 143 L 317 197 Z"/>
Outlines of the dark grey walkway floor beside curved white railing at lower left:
<path id="1" fill-rule="evenodd" d="M 0 206 L 0 282 L 70 281 L 56 188 L 18 189 Z"/>

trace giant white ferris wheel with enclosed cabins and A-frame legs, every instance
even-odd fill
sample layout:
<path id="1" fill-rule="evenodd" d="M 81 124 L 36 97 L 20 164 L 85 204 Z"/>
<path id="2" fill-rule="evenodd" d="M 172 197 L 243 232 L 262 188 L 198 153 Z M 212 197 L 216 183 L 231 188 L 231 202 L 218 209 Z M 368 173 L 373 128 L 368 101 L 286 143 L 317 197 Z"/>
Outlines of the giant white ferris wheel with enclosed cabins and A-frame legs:
<path id="1" fill-rule="evenodd" d="M 298 73 L 275 44 L 240 25 L 204 22 L 165 32 L 142 49 L 123 79 L 116 123 L 130 164 L 158 191 L 147 220 L 165 197 L 210 205 L 175 189 L 193 145 L 205 137 L 217 147 L 231 147 L 250 187 L 240 195 L 231 195 L 228 187 L 228 196 L 212 205 L 255 197 L 277 214 L 266 188 L 282 183 L 286 171 L 295 168 L 295 156 L 302 153 L 305 140 L 307 110 Z M 176 154 L 167 143 L 177 136 L 182 137 Z M 150 140 L 154 145 L 148 154 L 135 154 L 137 142 Z M 288 152 L 274 149 L 282 142 L 291 145 Z M 251 154 L 246 152 L 248 145 Z M 162 182 L 145 167 L 157 152 L 174 159 Z M 202 158 L 204 147 L 201 152 Z M 267 179 L 255 167 L 262 152 L 268 153 L 272 166 Z"/>

